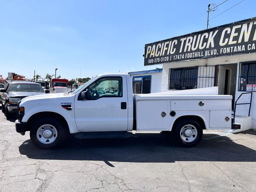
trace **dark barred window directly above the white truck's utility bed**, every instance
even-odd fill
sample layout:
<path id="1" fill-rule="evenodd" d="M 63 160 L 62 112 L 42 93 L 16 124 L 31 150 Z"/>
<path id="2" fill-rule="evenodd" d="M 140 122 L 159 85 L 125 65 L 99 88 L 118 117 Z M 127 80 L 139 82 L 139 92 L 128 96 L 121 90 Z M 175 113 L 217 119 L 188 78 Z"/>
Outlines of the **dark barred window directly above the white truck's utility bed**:
<path id="1" fill-rule="evenodd" d="M 169 89 L 194 89 L 197 85 L 198 67 L 169 70 Z"/>

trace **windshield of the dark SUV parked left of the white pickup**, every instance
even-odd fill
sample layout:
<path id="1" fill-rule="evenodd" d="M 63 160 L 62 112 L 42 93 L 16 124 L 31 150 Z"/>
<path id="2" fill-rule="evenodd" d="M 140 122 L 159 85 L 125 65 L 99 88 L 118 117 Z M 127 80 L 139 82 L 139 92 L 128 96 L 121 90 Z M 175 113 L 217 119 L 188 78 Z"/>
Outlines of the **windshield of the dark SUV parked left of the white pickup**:
<path id="1" fill-rule="evenodd" d="M 44 92 L 43 87 L 39 84 L 11 84 L 9 91 L 22 91 L 22 92 Z"/>

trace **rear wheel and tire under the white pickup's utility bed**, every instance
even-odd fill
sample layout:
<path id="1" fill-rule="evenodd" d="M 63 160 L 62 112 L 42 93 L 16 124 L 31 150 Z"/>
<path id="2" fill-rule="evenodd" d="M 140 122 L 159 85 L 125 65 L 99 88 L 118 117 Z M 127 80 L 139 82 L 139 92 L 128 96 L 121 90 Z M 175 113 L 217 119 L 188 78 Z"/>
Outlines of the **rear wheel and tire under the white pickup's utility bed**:
<path id="1" fill-rule="evenodd" d="M 175 139 L 182 147 L 196 146 L 203 137 L 203 129 L 196 120 L 179 121 L 175 127 Z"/>

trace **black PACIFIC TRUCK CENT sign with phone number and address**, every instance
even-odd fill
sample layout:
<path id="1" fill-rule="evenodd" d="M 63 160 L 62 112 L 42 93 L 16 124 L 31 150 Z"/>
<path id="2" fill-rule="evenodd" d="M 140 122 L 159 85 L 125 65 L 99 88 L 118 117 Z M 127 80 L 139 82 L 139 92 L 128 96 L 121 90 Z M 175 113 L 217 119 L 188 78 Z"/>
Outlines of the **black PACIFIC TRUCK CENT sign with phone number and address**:
<path id="1" fill-rule="evenodd" d="M 256 17 L 145 44 L 144 65 L 254 53 Z"/>

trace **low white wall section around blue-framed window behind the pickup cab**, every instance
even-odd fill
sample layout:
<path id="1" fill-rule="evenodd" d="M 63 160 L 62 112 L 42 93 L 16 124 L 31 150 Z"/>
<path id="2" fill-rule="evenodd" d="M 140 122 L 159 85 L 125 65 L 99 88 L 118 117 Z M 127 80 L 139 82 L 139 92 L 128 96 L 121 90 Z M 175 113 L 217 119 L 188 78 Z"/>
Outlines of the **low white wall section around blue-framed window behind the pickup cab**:
<path id="1" fill-rule="evenodd" d="M 136 75 L 130 75 L 130 77 L 131 77 L 131 80 L 133 80 L 133 77 L 147 76 L 147 75 L 151 75 L 151 93 L 161 92 L 161 90 L 162 90 L 162 72 L 136 74 Z"/>

